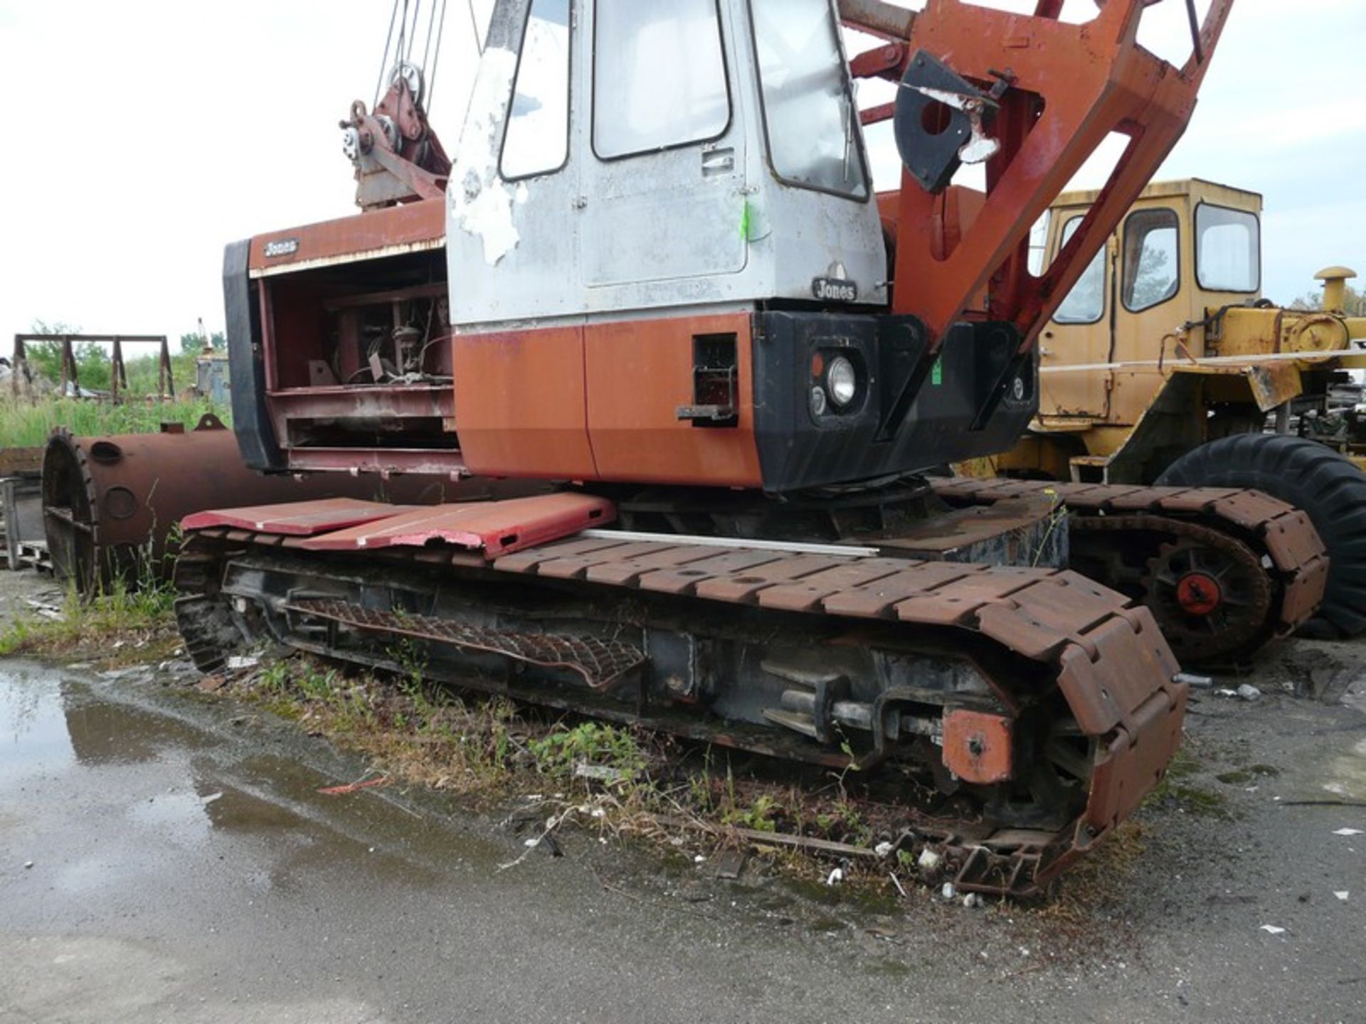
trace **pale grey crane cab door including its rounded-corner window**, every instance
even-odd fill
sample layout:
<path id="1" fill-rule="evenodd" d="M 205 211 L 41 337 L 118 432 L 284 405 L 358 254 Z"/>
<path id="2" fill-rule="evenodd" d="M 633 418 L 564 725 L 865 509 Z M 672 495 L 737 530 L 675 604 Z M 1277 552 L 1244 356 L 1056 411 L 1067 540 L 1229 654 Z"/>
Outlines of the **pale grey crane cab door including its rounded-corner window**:
<path id="1" fill-rule="evenodd" d="M 583 5 L 579 255 L 594 289 L 744 269 L 744 124 L 719 0 Z M 728 8 L 728 4 L 727 4 Z"/>

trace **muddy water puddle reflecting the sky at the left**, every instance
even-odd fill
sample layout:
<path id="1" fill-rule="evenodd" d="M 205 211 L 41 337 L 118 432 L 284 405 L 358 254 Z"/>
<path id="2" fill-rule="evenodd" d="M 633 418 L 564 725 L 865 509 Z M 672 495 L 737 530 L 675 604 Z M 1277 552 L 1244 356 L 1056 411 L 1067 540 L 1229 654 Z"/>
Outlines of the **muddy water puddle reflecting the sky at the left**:
<path id="1" fill-rule="evenodd" d="M 426 885 L 505 857 L 496 842 L 455 833 L 447 814 L 380 792 L 320 793 L 363 769 L 290 730 L 242 729 L 234 714 L 139 680 L 0 662 L 0 848 L 27 849 L 74 803 L 105 838 L 60 842 L 53 882 L 68 893 L 152 875 L 167 857 L 229 852 L 251 889 L 343 864 Z"/>

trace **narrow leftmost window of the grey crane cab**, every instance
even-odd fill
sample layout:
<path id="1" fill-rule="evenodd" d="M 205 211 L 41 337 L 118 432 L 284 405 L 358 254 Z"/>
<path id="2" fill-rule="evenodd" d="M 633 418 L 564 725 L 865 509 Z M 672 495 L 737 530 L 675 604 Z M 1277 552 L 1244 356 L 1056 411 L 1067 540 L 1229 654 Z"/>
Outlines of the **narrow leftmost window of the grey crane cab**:
<path id="1" fill-rule="evenodd" d="M 522 37 L 503 177 L 557 171 L 570 156 L 570 0 L 531 0 Z"/>

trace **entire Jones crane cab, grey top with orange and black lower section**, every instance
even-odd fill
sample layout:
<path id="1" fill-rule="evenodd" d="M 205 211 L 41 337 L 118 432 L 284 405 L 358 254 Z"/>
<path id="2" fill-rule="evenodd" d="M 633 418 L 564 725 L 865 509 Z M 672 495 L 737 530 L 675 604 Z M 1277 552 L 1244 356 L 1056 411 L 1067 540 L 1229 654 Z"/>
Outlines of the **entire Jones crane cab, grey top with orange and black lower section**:
<path id="1" fill-rule="evenodd" d="M 447 259 L 477 472 L 785 492 L 986 452 L 1031 411 L 1024 380 L 963 430 L 1008 330 L 947 345 L 907 408 L 926 337 L 888 311 L 829 0 L 497 4 Z"/>

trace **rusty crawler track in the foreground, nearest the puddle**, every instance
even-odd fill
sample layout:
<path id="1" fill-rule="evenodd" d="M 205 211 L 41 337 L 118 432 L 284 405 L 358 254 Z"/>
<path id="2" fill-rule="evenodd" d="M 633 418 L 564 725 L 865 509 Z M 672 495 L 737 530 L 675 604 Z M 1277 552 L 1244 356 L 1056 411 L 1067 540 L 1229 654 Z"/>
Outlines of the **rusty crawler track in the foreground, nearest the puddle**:
<path id="1" fill-rule="evenodd" d="M 1152 616 L 1075 572 L 568 539 L 302 552 L 191 532 L 176 617 L 204 672 L 270 639 L 783 758 L 877 771 L 966 890 L 1031 894 L 1161 778 L 1186 687 Z M 1008 732 L 1008 739 L 1003 736 Z"/>

